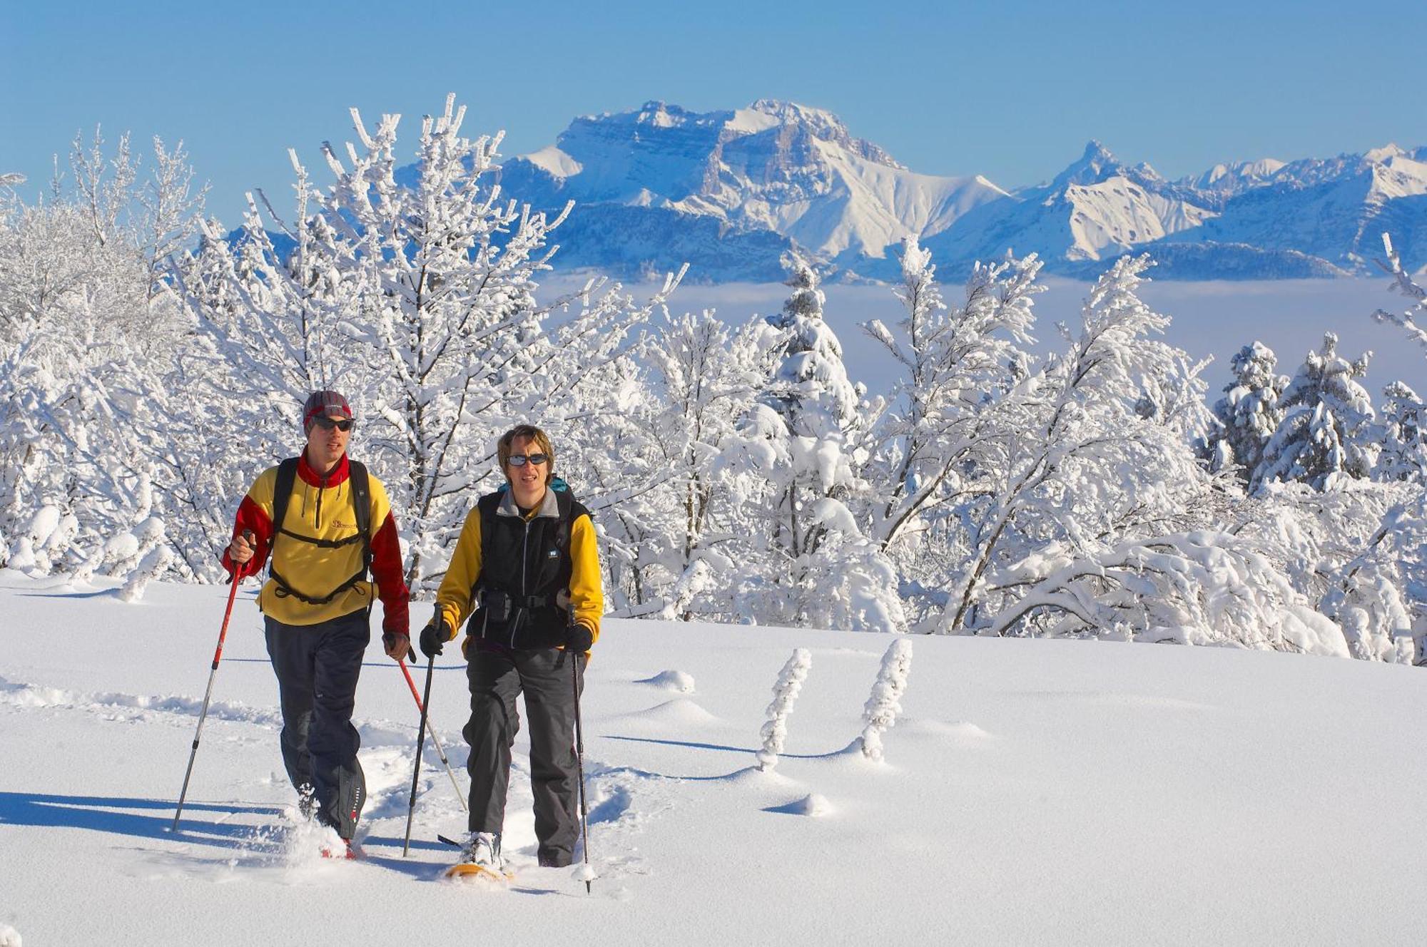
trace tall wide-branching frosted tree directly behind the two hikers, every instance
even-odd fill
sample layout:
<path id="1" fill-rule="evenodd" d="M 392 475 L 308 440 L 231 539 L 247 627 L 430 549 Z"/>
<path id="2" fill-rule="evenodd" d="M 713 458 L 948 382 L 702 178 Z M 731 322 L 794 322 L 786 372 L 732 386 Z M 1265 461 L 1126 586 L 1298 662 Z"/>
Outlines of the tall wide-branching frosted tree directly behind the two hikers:
<path id="1" fill-rule="evenodd" d="M 208 342 L 210 384 L 237 399 L 235 422 L 258 438 L 258 456 L 228 462 L 250 475 L 271 464 L 290 451 L 303 394 L 342 389 L 360 416 L 357 449 L 388 485 L 412 583 L 435 578 L 472 491 L 494 479 L 495 436 L 539 421 L 574 449 L 574 421 L 602 395 L 582 382 L 625 351 L 631 328 L 676 285 L 635 305 L 595 280 L 538 305 L 537 277 L 564 214 L 504 198 L 499 135 L 462 137 L 464 116 L 452 96 L 425 117 L 408 168 L 397 153 L 400 116 L 368 131 L 352 110 L 358 144 L 344 154 L 324 147 L 331 185 L 314 185 L 291 153 L 291 222 L 250 198 L 241 238 L 207 227 L 180 271 Z M 571 307 L 574 315 L 551 317 Z"/>

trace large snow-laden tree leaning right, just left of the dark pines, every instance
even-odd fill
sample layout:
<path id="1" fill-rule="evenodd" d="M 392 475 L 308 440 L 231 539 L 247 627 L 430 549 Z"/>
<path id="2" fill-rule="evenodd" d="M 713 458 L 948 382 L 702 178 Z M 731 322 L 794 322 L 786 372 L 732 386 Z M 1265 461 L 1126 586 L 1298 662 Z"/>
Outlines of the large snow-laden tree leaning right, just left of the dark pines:
<path id="1" fill-rule="evenodd" d="M 1147 257 L 1124 257 L 1092 288 L 1069 351 L 1009 392 L 963 512 L 962 559 L 933 630 L 1033 633 L 1056 610 L 996 615 L 1023 595 L 989 575 L 1050 543 L 1092 553 L 1193 529 L 1210 483 L 1190 442 L 1207 425 L 1203 365 L 1152 338 L 1169 324 L 1137 295 Z"/>

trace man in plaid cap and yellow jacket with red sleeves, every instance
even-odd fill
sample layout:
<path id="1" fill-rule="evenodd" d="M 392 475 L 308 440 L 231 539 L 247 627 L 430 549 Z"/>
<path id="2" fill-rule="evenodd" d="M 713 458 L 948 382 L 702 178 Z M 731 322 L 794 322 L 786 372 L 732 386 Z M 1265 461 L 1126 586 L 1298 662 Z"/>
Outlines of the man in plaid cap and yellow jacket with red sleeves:
<path id="1" fill-rule="evenodd" d="M 352 424 L 347 398 L 313 392 L 301 456 L 258 475 L 223 553 L 240 576 L 257 575 L 271 553 L 258 606 L 283 706 L 283 763 L 303 814 L 347 843 L 367 797 L 351 717 L 374 596 L 387 655 L 411 650 L 397 522 L 381 481 L 347 458 Z M 327 854 L 351 854 L 350 844 L 334 849 Z"/>

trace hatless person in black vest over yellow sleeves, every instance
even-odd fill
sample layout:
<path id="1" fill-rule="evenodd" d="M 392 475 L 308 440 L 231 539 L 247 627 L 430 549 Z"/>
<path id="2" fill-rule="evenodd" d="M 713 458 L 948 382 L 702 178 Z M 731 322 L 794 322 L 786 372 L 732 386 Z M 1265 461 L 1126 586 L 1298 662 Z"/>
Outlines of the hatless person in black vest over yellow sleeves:
<path id="1" fill-rule="evenodd" d="M 579 837 L 572 682 L 584 689 L 581 665 L 599 638 L 599 553 L 589 511 L 555 478 L 555 451 L 544 431 L 512 428 L 497 452 L 507 482 L 467 515 L 421 650 L 440 655 L 469 622 L 471 831 L 461 860 L 502 866 L 511 746 L 519 729 L 515 699 L 524 693 L 537 857 L 561 867 L 574 859 Z"/>

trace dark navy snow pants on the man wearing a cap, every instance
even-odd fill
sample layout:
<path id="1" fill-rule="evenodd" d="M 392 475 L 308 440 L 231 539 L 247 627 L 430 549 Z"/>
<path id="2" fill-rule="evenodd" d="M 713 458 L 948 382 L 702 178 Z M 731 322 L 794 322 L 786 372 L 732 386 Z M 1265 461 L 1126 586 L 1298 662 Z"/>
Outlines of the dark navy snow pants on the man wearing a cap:
<path id="1" fill-rule="evenodd" d="M 367 802 L 352 726 L 357 676 L 371 640 L 367 609 L 320 625 L 267 622 L 268 656 L 283 705 L 283 764 L 293 787 L 314 790 L 317 819 L 351 839 Z"/>

